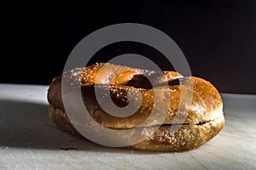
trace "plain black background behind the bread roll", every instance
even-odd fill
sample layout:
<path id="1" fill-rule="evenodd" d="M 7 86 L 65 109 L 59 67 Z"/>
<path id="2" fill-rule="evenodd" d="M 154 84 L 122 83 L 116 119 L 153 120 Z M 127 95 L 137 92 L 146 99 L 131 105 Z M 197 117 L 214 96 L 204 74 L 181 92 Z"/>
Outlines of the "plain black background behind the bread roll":
<path id="1" fill-rule="evenodd" d="M 95 3 L 80 8 L 18 8 L 3 17 L 1 83 L 49 85 L 61 74 L 75 45 L 104 26 L 141 23 L 177 42 L 192 74 L 220 92 L 256 94 L 255 1 L 166 1 Z M 143 44 L 124 42 L 102 49 L 91 62 L 125 53 L 151 59 L 161 54 Z M 102 58 L 104 56 L 104 58 Z"/>

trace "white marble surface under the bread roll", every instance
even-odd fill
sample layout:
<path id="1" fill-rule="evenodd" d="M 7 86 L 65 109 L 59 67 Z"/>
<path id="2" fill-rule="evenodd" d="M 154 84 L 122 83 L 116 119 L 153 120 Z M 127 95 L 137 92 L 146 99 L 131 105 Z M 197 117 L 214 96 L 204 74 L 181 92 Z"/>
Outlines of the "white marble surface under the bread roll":
<path id="1" fill-rule="evenodd" d="M 0 169 L 256 169 L 256 95 L 222 94 L 226 124 L 217 137 L 196 150 L 160 153 L 61 132 L 49 120 L 47 88 L 0 84 Z"/>

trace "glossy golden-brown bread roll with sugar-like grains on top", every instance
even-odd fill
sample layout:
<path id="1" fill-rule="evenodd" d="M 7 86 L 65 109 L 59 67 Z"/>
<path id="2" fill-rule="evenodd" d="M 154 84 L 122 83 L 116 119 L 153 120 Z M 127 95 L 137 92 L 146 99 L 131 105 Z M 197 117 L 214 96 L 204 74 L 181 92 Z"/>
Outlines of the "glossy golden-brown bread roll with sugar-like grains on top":
<path id="1" fill-rule="evenodd" d="M 113 75 L 113 72 L 119 73 Z M 212 83 L 199 77 L 183 77 L 175 71 L 146 71 L 108 63 L 90 65 L 63 74 L 68 77 L 68 81 L 81 88 L 87 111 L 102 127 L 117 130 L 138 127 L 137 133 L 140 133 L 144 140 L 131 144 L 129 147 L 132 149 L 192 150 L 212 139 L 224 127 L 221 96 Z M 65 111 L 61 94 L 63 74 L 55 77 L 49 85 L 49 115 L 57 127 L 67 133 L 82 136 L 73 127 Z M 192 83 L 193 88 L 186 86 L 184 83 L 186 81 Z M 164 84 L 168 87 L 162 88 Z M 99 105 L 95 93 L 96 85 L 98 85 L 97 88 L 106 92 L 110 89 L 113 103 L 121 108 L 129 105 L 129 102 L 132 103 L 131 99 L 136 100 L 135 98 L 127 99 L 128 91 L 138 91 L 142 94 L 141 105 L 131 116 L 113 116 Z M 68 93 L 71 92 L 67 92 L 67 96 L 72 96 Z M 181 98 L 182 93 L 183 98 Z M 184 96 L 189 98 L 189 94 L 192 94 L 191 102 L 183 102 L 186 100 Z M 154 104 L 157 101 L 155 98 L 160 98 L 157 99 L 161 101 L 158 105 Z M 72 101 L 70 105 L 75 107 L 76 101 L 73 103 Z M 181 103 L 183 103 L 182 106 Z M 153 108 L 154 111 L 160 111 L 165 105 L 168 106 L 168 110 L 162 117 L 162 121 L 156 121 L 163 115 L 152 116 L 151 111 Z M 147 122 L 139 127 L 146 120 Z M 155 126 L 159 127 L 155 129 Z M 170 127 L 177 127 L 177 129 L 171 131 Z"/>

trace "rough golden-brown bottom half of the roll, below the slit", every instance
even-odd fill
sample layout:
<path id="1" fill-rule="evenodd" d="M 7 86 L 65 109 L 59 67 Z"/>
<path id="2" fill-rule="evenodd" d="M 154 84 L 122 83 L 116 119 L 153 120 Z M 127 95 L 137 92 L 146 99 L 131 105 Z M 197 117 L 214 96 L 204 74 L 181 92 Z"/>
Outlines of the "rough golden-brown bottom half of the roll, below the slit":
<path id="1" fill-rule="evenodd" d="M 83 137 L 69 121 L 67 114 L 53 105 L 49 105 L 49 113 L 52 122 L 61 130 L 78 137 Z M 177 125 L 172 125 L 177 126 Z M 224 127 L 224 115 L 211 122 L 201 124 L 183 124 L 175 133 L 171 131 L 171 125 L 159 127 L 155 132 L 152 127 L 140 127 L 139 133 L 143 135 L 143 142 L 129 146 L 136 150 L 154 151 L 183 151 L 193 150 L 216 136 Z M 152 133 L 154 132 L 154 133 Z"/>

